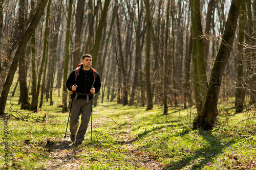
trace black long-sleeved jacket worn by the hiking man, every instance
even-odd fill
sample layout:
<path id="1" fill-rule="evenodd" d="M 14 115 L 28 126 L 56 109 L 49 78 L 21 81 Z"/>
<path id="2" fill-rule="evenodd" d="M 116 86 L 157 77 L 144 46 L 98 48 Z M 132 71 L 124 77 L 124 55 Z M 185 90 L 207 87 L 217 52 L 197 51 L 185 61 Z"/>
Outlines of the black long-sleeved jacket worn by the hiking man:
<path id="1" fill-rule="evenodd" d="M 92 88 L 93 82 L 94 82 L 94 74 L 93 74 L 93 69 L 90 68 L 89 72 L 84 72 L 82 70 L 83 65 L 80 66 L 80 70 L 78 72 L 77 78 L 75 80 L 75 72 L 76 69 L 74 69 L 66 83 L 67 88 L 72 91 L 71 87 L 76 84 L 77 88 L 76 91 L 78 93 L 77 99 L 86 99 L 86 95 L 84 94 L 89 94 L 90 89 Z M 96 81 L 93 85 L 95 88 L 95 93 L 97 93 L 101 87 L 101 82 L 100 82 L 100 77 L 98 72 L 96 72 Z M 76 82 L 75 82 L 76 81 Z M 75 94 L 75 93 L 73 93 Z M 89 99 L 92 99 L 92 96 L 89 95 Z"/>

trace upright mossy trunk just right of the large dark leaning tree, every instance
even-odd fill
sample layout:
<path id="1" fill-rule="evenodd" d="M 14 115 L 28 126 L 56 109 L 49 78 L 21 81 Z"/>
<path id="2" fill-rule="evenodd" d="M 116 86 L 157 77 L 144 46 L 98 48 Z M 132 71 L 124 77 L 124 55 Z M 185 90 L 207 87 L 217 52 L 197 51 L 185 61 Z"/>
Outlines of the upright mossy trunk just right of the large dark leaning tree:
<path id="1" fill-rule="evenodd" d="M 243 63 L 243 43 L 244 43 L 244 31 L 245 31 L 245 22 L 246 22 L 246 4 L 245 0 L 241 4 L 241 12 L 239 16 L 239 44 L 238 44 L 238 66 L 237 66 L 237 89 L 236 89 L 236 112 L 241 113 L 244 110 L 244 98 L 245 98 L 245 89 L 244 89 L 244 63 Z"/>

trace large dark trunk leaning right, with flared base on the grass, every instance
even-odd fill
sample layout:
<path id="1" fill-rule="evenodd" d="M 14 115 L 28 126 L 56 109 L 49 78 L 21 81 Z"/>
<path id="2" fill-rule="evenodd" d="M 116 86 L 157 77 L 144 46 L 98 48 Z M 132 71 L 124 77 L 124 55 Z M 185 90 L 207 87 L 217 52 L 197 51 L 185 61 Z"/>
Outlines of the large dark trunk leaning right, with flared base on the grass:
<path id="1" fill-rule="evenodd" d="M 217 53 L 214 66 L 211 70 L 209 88 L 207 91 L 205 104 L 202 112 L 198 114 L 193 122 L 193 127 L 195 129 L 212 129 L 216 123 L 218 116 L 218 96 L 220 92 L 222 76 L 224 74 L 224 70 L 230 54 L 230 49 L 233 44 L 234 34 L 236 33 L 241 2 L 241 0 L 232 0 L 231 2 L 222 43 Z"/>

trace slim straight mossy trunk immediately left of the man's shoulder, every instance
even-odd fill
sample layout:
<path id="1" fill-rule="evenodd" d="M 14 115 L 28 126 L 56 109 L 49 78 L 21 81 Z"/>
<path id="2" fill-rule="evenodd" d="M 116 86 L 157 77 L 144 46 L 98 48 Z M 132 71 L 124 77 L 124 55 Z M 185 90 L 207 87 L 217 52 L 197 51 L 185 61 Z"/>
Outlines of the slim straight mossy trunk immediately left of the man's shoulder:
<path id="1" fill-rule="evenodd" d="M 63 84 L 62 84 L 62 113 L 68 111 L 68 89 L 66 87 L 66 82 L 68 79 L 69 71 L 69 44 L 70 44 L 70 27 L 71 27 L 71 15 L 72 15 L 73 0 L 69 0 L 69 10 L 68 10 L 68 20 L 67 20 L 67 30 L 66 30 L 66 43 L 65 43 L 65 62 L 63 70 Z"/>

